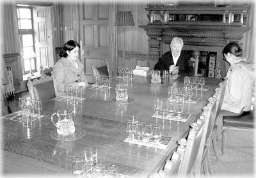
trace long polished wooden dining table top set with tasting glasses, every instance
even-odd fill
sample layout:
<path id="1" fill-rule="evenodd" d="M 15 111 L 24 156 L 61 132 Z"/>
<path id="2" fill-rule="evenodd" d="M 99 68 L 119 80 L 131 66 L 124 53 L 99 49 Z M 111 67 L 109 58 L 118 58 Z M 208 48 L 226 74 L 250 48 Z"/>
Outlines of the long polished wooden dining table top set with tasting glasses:
<path id="1" fill-rule="evenodd" d="M 115 86 L 120 82 L 111 80 L 109 91 L 85 89 L 83 99 L 76 106 L 70 102 L 49 100 L 42 103 L 43 117 L 33 121 L 31 128 L 24 128 L 22 122 L 3 119 L 3 150 L 36 159 L 42 163 L 70 170 L 72 177 L 72 158 L 84 156 L 85 147 L 97 147 L 98 162 L 118 166 L 116 174 L 127 177 L 149 177 L 164 167 L 177 147 L 177 141 L 188 135 L 189 125 L 196 121 L 207 104 L 207 98 L 214 94 L 220 80 L 205 77 L 207 91 L 193 90 L 193 96 L 199 98 L 196 103 L 184 103 L 183 111 L 190 116 L 186 122 L 159 119 L 154 115 L 154 98 L 168 98 L 168 86 L 183 86 L 183 76 L 166 78 L 163 85 L 151 85 L 150 77 L 134 76 L 127 86 L 131 103 L 120 104 L 115 98 Z M 51 115 L 62 109 L 74 111 L 73 120 L 77 131 L 84 131 L 81 138 L 58 140 L 52 137 L 56 127 L 51 123 Z M 138 116 L 143 123 L 161 125 L 161 134 L 172 137 L 166 149 L 157 149 L 140 144 L 124 142 L 128 137 L 125 132 L 129 116 Z M 78 135 L 77 135 L 78 137 Z M 76 137 L 74 137 L 76 138 Z"/>

